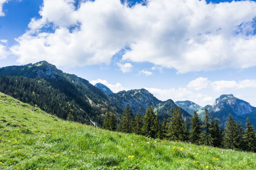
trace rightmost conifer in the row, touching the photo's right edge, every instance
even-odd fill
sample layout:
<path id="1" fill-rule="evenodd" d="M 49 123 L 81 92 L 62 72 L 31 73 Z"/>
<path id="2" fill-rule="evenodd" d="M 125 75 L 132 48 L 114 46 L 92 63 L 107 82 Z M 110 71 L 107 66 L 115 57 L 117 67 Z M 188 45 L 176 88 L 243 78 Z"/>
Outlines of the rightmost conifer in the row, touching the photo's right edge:
<path id="1" fill-rule="evenodd" d="M 250 119 L 246 119 L 247 122 L 245 123 L 246 129 L 244 130 L 244 149 L 246 151 L 256 152 L 256 132 Z"/>

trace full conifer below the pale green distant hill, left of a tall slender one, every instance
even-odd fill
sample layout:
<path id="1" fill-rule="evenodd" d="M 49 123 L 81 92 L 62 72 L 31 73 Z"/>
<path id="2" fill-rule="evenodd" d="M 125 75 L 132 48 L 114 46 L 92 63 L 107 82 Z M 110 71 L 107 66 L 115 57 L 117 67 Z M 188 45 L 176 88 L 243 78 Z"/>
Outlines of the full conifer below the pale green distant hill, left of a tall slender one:
<path id="1" fill-rule="evenodd" d="M 199 144 L 200 136 L 202 133 L 201 121 L 198 117 L 196 111 L 194 111 L 193 116 L 190 118 L 190 141 L 195 144 Z"/>

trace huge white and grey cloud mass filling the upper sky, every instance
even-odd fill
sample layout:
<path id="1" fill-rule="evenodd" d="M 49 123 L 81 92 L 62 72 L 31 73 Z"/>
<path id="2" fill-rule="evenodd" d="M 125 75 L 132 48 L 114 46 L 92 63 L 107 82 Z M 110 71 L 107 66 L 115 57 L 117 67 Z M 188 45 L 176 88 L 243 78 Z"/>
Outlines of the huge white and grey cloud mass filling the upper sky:
<path id="1" fill-rule="evenodd" d="M 30 30 L 11 48 L 18 62 L 47 60 L 84 66 L 123 60 L 151 62 L 178 73 L 256 65 L 256 2 L 148 0 L 132 8 L 120 0 L 44 0 Z M 41 28 L 52 32 L 43 32 Z"/>

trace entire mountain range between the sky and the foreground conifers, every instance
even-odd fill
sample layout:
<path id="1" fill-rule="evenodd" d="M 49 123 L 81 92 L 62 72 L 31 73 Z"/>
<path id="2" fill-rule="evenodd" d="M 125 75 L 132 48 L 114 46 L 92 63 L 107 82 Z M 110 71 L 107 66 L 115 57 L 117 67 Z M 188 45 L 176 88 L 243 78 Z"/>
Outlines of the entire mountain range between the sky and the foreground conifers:
<path id="1" fill-rule="evenodd" d="M 46 61 L 0 68 L 0 91 L 59 118 L 67 119 L 69 115 L 74 121 L 96 126 L 102 125 L 107 106 L 115 113 L 118 123 L 127 103 L 134 115 L 139 111 L 145 113 L 149 106 L 163 119 L 171 108 L 179 106 L 183 117 L 189 120 L 194 111 L 202 118 L 207 108 L 223 126 L 229 114 L 243 124 L 249 117 L 256 125 L 256 108 L 232 94 L 221 95 L 213 105 L 202 107 L 192 101 L 161 101 L 144 88 L 113 93 L 101 83 L 92 85 Z"/>

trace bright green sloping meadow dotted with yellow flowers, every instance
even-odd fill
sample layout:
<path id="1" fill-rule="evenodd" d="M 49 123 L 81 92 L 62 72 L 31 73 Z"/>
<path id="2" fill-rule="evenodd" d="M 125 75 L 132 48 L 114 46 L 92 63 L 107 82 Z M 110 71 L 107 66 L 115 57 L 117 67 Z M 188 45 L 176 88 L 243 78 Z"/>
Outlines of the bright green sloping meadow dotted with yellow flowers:
<path id="1" fill-rule="evenodd" d="M 0 169 L 45 168 L 255 169 L 256 155 L 105 131 L 0 93 Z"/>

